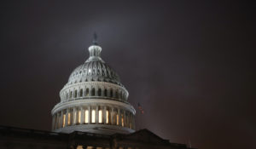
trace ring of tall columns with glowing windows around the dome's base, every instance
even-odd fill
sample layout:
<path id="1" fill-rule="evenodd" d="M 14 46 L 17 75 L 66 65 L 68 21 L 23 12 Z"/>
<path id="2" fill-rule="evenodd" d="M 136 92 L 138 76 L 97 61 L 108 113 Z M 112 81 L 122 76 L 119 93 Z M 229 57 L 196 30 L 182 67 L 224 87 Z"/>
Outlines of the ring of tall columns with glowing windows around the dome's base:
<path id="1" fill-rule="evenodd" d="M 116 107 L 75 106 L 53 115 L 53 130 L 79 124 L 111 124 L 135 129 L 134 115 Z"/>

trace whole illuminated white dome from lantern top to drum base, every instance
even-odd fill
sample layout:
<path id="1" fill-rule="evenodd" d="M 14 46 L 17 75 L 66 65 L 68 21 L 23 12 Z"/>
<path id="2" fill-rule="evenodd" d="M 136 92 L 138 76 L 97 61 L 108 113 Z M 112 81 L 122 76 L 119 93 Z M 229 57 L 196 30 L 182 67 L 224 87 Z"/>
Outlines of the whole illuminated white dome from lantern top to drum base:
<path id="1" fill-rule="evenodd" d="M 119 76 L 101 58 L 102 48 L 94 42 L 90 57 L 70 75 L 55 105 L 52 129 L 71 133 L 129 134 L 135 129 L 135 109 Z"/>

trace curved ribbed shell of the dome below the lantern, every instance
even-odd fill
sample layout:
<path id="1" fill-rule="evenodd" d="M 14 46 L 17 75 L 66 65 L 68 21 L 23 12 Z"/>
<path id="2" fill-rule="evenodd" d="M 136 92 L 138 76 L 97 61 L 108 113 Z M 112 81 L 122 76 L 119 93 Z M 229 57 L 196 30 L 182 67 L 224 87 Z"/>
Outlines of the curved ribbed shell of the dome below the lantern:
<path id="1" fill-rule="evenodd" d="M 118 74 L 102 60 L 86 60 L 83 65 L 78 66 L 71 73 L 67 84 L 90 81 L 101 81 L 121 85 Z"/>

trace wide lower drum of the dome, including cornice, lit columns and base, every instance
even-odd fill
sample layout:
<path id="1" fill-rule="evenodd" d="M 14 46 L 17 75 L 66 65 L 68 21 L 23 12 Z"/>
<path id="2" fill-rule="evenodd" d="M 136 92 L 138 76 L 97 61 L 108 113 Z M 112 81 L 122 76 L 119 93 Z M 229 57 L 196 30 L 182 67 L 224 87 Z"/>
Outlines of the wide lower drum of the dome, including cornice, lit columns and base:
<path id="1" fill-rule="evenodd" d="M 119 101 L 69 101 L 56 105 L 52 115 L 54 117 L 52 129 L 55 132 L 70 133 L 70 130 L 76 129 L 112 135 L 117 133 L 115 129 L 123 134 L 131 133 L 135 129 L 134 108 Z"/>

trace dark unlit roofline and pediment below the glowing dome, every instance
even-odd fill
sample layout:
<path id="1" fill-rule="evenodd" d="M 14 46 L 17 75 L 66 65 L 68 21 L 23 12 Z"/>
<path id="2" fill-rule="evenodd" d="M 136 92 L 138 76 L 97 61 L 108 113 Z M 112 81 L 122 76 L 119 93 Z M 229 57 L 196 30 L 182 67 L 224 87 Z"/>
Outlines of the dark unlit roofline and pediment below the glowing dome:
<path id="1" fill-rule="evenodd" d="M 171 143 L 148 129 L 131 134 L 99 135 L 75 131 L 71 134 L 35 129 L 0 126 L 0 148 L 47 148 L 47 149 L 187 149 L 184 144 Z"/>

